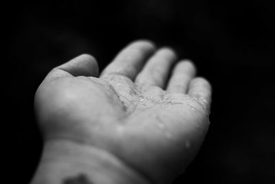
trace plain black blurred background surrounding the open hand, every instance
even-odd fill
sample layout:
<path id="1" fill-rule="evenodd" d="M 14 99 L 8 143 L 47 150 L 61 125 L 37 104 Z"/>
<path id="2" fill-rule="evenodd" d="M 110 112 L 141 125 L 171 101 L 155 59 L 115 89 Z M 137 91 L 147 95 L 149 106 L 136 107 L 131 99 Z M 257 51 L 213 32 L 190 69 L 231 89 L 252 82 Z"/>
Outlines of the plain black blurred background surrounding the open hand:
<path id="1" fill-rule="evenodd" d="M 82 53 L 102 69 L 130 41 L 151 39 L 192 59 L 214 90 L 206 141 L 175 184 L 275 183 L 274 8 L 265 0 L 10 3 L 2 86 L 12 181 L 28 183 L 39 161 L 33 98 L 47 72 Z"/>

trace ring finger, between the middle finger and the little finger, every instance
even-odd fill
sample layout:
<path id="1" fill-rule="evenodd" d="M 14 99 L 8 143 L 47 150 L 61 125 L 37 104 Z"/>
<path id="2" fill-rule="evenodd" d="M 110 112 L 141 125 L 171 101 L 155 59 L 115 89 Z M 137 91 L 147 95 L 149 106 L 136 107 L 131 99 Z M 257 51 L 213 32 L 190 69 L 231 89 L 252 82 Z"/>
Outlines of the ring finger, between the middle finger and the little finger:
<path id="1" fill-rule="evenodd" d="M 167 85 L 167 92 L 187 93 L 190 80 L 196 75 L 195 65 L 188 60 L 179 61 L 173 69 Z"/>

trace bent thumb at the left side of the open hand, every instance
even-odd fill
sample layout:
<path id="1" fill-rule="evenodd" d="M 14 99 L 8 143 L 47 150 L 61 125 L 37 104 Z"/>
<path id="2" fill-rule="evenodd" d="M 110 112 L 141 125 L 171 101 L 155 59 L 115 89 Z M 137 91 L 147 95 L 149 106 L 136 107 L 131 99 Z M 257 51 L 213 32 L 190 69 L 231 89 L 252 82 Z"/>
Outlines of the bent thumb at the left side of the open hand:
<path id="1" fill-rule="evenodd" d="M 58 78 L 62 76 L 98 76 L 98 63 L 89 54 L 80 56 L 54 68 L 46 79 Z"/>

